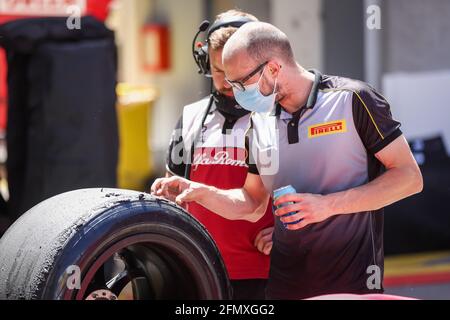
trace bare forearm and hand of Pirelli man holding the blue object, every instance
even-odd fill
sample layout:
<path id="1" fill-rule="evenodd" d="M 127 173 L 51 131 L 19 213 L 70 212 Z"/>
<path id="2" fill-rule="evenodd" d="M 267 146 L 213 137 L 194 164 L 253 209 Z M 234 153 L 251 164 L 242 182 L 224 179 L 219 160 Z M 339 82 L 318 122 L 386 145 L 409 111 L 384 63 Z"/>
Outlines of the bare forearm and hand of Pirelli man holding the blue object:
<path id="1" fill-rule="evenodd" d="M 281 221 L 303 218 L 300 223 L 289 225 L 289 229 L 300 229 L 333 215 L 377 210 L 422 191 L 422 174 L 403 135 L 375 156 L 386 167 L 386 172 L 373 181 L 325 196 L 295 194 L 280 197 L 275 205 L 289 201 L 295 204 L 282 207 L 275 214 L 298 211 L 295 215 L 282 217 Z"/>

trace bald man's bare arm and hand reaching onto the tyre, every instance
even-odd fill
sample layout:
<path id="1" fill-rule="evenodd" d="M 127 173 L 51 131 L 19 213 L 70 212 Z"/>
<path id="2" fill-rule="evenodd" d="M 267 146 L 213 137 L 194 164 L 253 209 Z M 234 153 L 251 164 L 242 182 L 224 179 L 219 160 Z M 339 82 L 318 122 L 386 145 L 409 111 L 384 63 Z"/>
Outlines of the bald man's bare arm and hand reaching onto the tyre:
<path id="1" fill-rule="evenodd" d="M 264 216 L 269 194 L 258 175 L 248 173 L 241 189 L 222 190 L 181 177 L 157 179 L 151 192 L 178 204 L 196 202 L 229 220 L 258 221 Z"/>

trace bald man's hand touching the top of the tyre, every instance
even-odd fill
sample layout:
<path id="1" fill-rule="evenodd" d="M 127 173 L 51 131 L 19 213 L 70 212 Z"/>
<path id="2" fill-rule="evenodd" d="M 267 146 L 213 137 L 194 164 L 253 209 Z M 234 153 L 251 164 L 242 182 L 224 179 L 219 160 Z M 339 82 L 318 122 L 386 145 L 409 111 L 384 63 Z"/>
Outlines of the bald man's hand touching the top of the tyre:
<path id="1" fill-rule="evenodd" d="M 173 176 L 156 179 L 151 193 L 175 201 L 178 205 L 200 200 L 205 186 L 187 179 Z"/>

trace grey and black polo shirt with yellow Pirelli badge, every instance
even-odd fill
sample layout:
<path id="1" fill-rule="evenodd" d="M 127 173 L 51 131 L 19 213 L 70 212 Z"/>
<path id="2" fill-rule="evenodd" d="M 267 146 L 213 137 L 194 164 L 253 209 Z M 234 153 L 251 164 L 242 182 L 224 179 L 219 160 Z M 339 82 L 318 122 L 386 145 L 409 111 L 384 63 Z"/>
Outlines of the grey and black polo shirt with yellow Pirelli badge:
<path id="1" fill-rule="evenodd" d="M 290 184 L 298 193 L 325 195 L 364 185 L 384 170 L 375 154 L 402 134 L 388 102 L 369 85 L 315 75 L 298 112 L 278 106 L 252 115 L 249 171 L 268 192 Z M 374 268 L 383 277 L 383 210 L 338 215 L 296 231 L 276 220 L 268 298 L 383 291 L 367 285 Z"/>

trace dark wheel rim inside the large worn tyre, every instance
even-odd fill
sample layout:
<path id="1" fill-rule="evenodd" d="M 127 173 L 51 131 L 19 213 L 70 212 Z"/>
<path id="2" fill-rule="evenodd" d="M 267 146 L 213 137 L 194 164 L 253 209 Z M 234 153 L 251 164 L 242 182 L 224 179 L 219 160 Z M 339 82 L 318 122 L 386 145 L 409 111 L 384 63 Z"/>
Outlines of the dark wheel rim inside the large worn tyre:
<path id="1" fill-rule="evenodd" d="M 190 250 L 191 249 L 191 250 Z M 127 237 L 106 248 L 81 271 L 81 288 L 67 292 L 66 299 L 86 299 L 96 290 L 106 289 L 119 298 L 208 299 L 214 292 L 207 279 L 202 259 L 192 259 L 192 248 L 162 234 Z M 106 271 L 112 259 L 120 259 L 124 268 Z M 205 274 L 206 272 L 206 274 Z"/>

